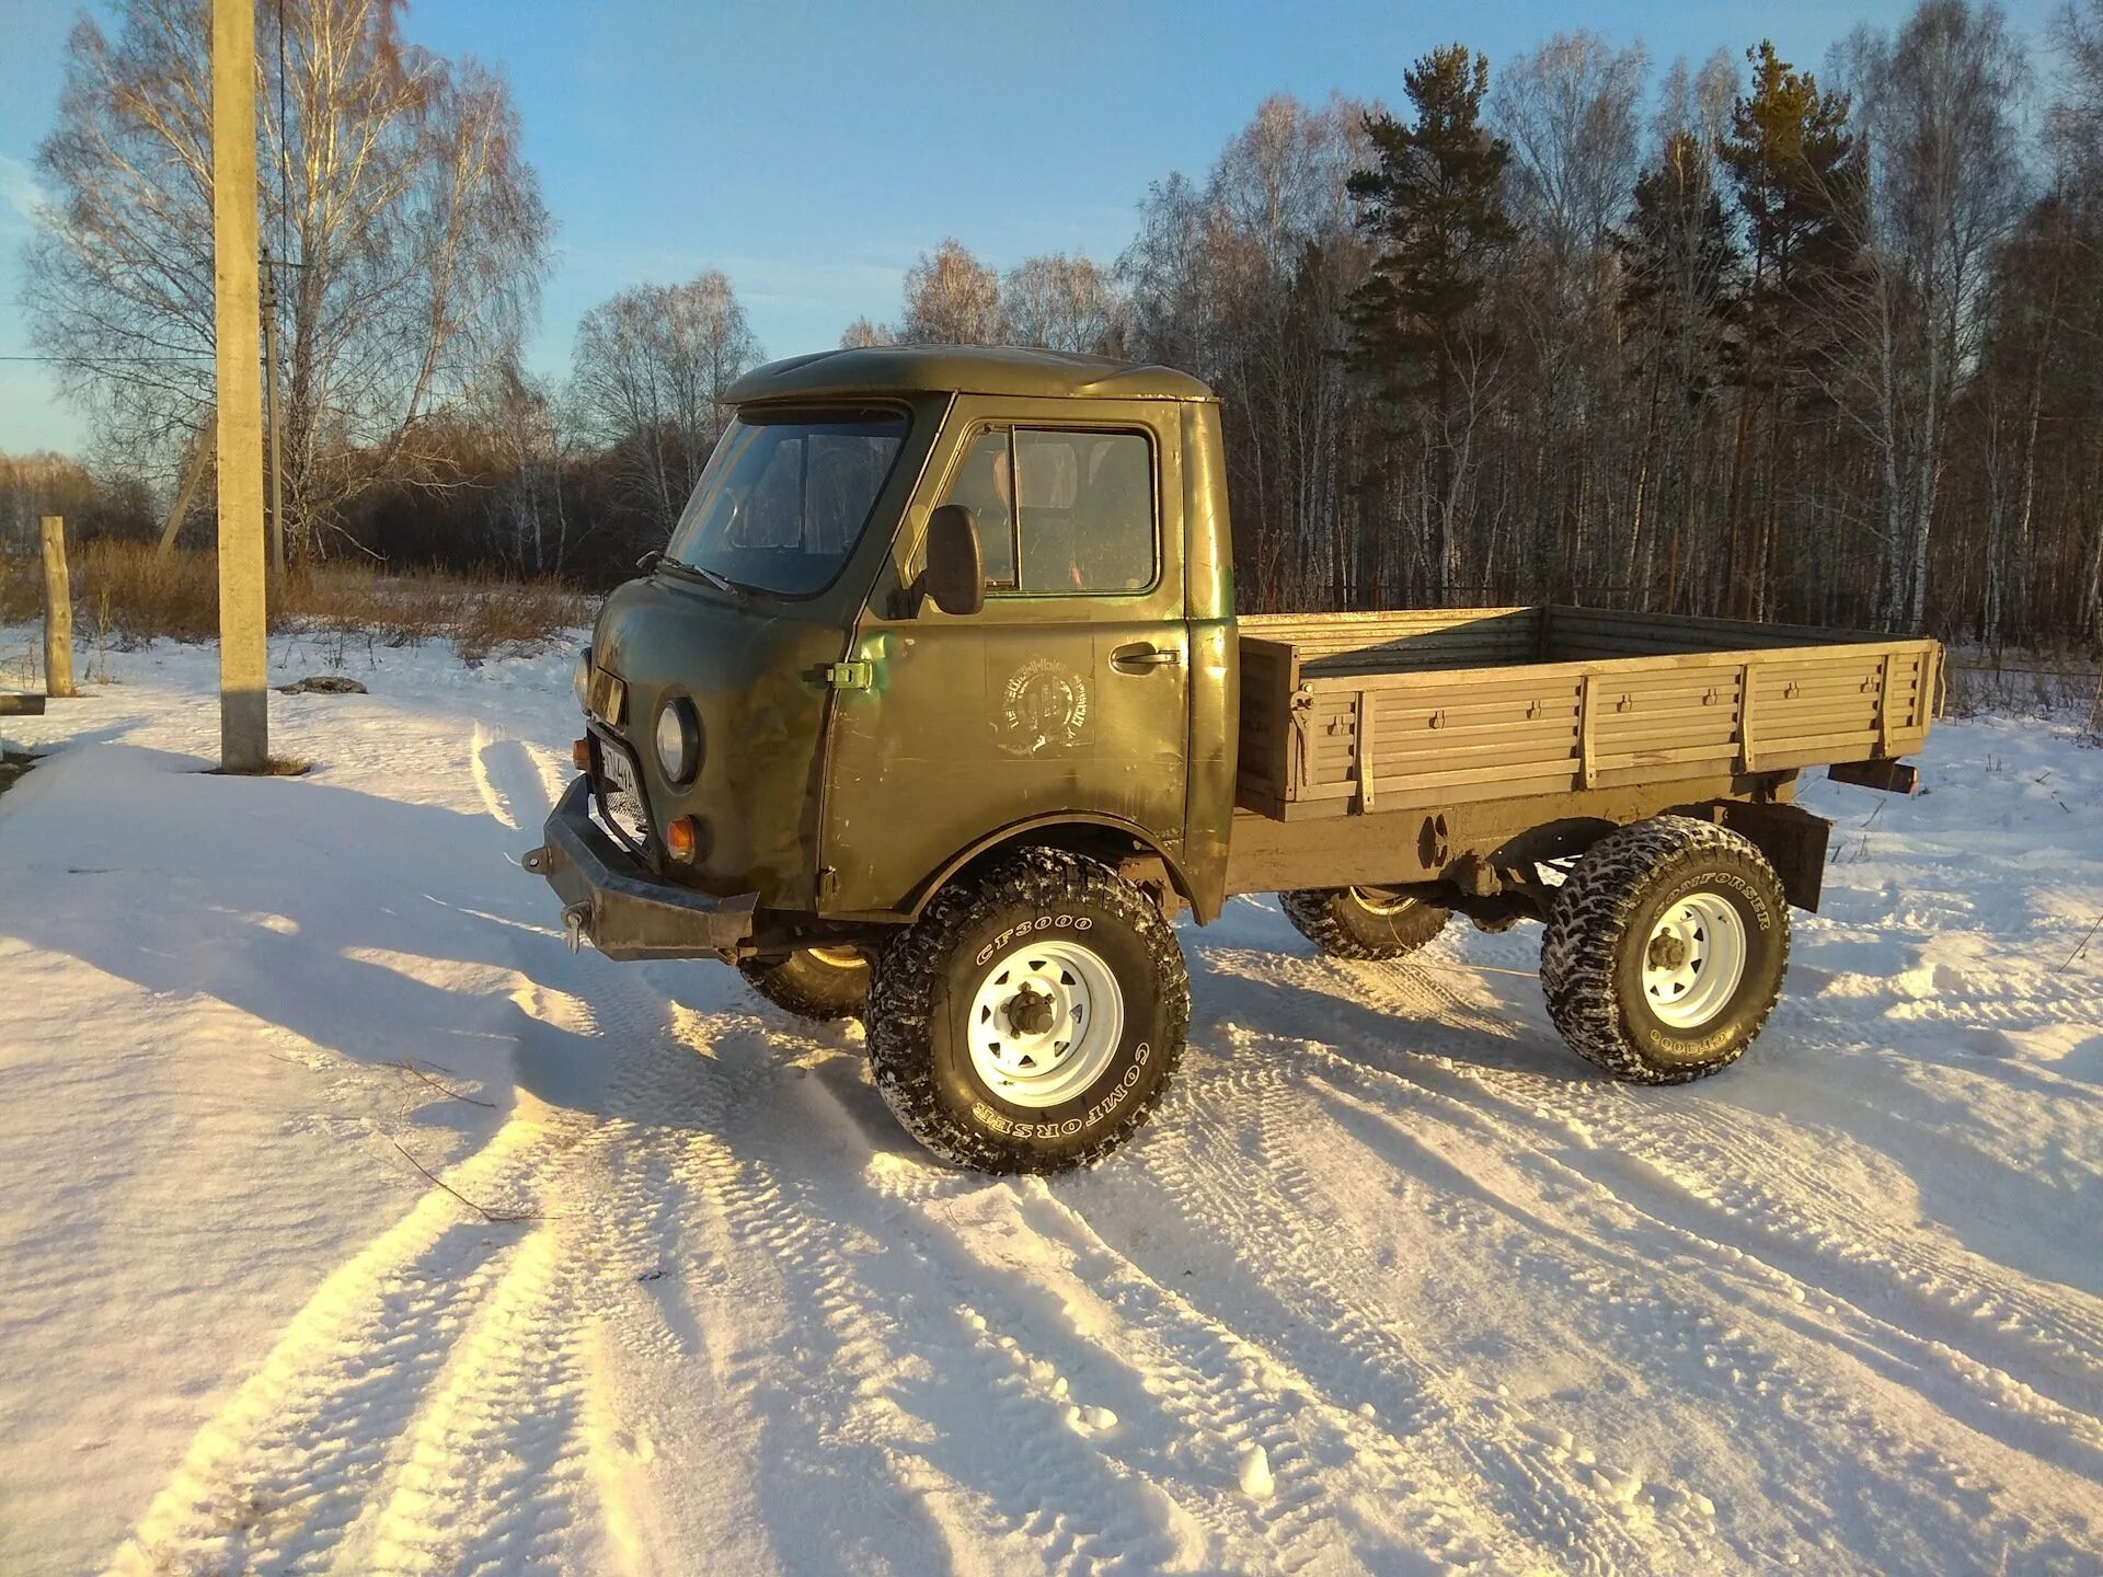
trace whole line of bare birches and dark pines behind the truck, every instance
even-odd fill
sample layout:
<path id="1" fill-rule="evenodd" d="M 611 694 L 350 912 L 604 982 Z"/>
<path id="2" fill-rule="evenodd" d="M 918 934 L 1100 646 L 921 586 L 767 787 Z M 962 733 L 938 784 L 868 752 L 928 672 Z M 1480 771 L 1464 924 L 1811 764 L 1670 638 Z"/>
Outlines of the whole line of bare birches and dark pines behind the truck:
<path id="1" fill-rule="evenodd" d="M 259 25 L 288 86 L 282 116 L 261 95 L 263 233 L 301 261 L 294 549 L 601 580 L 662 542 L 763 360 L 730 280 L 627 288 L 566 376 L 530 374 L 551 223 L 503 82 L 408 46 L 389 0 Z M 200 0 L 74 36 L 32 326 L 99 452 L 164 471 L 15 463 L 0 530 L 67 488 L 90 528 L 158 530 L 204 431 L 202 71 Z M 1243 608 L 2103 643 L 2103 0 L 2036 48 L 1994 4 L 1922 0 L 1817 69 L 1758 42 L 1653 71 L 1575 32 L 1495 67 L 1434 48 L 1396 88 L 1264 101 L 1203 177 L 1140 196 L 1117 259 L 997 271 L 944 240 L 841 343 L 1197 372 L 1226 404 Z"/>

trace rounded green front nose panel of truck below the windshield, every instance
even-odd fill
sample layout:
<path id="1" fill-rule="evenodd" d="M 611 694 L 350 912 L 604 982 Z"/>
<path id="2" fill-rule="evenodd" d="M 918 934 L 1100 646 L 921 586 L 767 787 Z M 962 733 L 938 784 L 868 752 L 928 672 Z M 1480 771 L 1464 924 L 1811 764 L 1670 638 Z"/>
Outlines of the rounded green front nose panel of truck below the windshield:
<path id="1" fill-rule="evenodd" d="M 740 601 L 660 574 L 629 580 L 599 610 L 591 650 L 627 683 L 618 734 L 641 761 L 650 816 L 700 822 L 694 866 L 665 864 L 673 881 L 711 894 L 759 894 L 768 908 L 816 908 L 818 793 L 831 688 L 848 631 L 793 601 Z M 692 700 L 700 772 L 686 788 L 665 780 L 652 749 L 658 706 Z"/>

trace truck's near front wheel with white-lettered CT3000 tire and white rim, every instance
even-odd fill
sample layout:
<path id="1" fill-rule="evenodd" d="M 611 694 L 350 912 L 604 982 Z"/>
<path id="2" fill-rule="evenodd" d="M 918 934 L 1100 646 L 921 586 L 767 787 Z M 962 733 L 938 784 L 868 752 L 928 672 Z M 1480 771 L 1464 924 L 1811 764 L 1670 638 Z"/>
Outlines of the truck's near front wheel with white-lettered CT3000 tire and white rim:
<path id="1" fill-rule="evenodd" d="M 1108 866 L 1020 849 L 959 879 L 877 961 L 869 1064 L 904 1129 L 978 1171 L 1064 1171 L 1167 1093 L 1190 980 Z"/>

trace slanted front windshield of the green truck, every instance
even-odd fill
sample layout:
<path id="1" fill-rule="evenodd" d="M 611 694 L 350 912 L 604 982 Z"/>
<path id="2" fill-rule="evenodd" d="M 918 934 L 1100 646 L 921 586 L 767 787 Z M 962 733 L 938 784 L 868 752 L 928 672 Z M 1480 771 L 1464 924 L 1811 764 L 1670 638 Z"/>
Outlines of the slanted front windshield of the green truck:
<path id="1" fill-rule="evenodd" d="M 665 557 L 753 591 L 824 591 L 860 540 L 904 437 L 896 410 L 740 412 Z"/>

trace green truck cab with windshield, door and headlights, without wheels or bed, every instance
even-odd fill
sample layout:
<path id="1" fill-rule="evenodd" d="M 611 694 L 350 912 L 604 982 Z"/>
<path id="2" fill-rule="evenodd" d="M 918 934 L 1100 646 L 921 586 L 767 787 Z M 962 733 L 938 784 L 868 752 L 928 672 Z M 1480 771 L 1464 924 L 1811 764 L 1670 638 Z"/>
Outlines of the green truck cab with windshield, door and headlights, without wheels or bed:
<path id="1" fill-rule="evenodd" d="M 877 347 L 778 362 L 730 400 L 662 557 L 606 601 L 578 696 L 599 824 L 660 898 L 736 921 L 681 946 L 585 902 L 578 931 L 614 957 L 852 940 L 1033 839 L 1138 862 L 1209 919 L 1237 652 L 1211 391 L 1100 357 Z M 969 612 L 927 591 L 944 505 L 978 538 Z"/>

